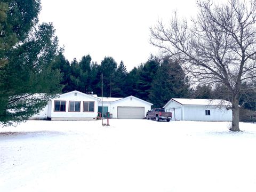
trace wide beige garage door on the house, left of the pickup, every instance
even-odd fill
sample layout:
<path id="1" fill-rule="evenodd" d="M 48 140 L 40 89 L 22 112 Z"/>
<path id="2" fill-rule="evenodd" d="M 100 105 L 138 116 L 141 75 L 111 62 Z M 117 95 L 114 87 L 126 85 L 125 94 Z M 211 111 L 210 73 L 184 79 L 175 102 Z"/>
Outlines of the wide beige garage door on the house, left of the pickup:
<path id="1" fill-rule="evenodd" d="M 144 107 L 117 107 L 117 118 L 145 118 Z"/>

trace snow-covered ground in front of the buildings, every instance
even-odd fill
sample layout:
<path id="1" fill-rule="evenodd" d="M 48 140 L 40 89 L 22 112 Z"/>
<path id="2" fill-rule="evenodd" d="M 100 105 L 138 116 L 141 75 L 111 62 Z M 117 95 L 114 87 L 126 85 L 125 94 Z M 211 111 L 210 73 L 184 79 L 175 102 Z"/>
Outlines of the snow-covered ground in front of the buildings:
<path id="1" fill-rule="evenodd" d="M 106 123 L 106 122 L 105 122 Z M 28 121 L 0 127 L 0 191 L 256 191 L 256 124 Z"/>

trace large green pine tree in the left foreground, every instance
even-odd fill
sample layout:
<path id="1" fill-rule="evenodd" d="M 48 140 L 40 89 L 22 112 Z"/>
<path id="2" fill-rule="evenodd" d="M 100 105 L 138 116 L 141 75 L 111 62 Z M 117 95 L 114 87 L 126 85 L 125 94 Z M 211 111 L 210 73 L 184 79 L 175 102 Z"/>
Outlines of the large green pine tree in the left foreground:
<path id="1" fill-rule="evenodd" d="M 37 24 L 40 10 L 40 1 L 0 2 L 0 122 L 4 124 L 25 121 L 61 90 L 60 72 L 52 69 L 58 39 L 51 24 Z"/>

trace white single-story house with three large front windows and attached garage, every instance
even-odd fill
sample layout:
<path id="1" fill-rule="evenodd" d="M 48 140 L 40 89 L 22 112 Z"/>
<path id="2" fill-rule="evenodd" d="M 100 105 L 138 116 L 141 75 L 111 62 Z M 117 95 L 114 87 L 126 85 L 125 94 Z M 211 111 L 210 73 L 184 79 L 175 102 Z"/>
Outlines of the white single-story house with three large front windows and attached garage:
<path id="1" fill-rule="evenodd" d="M 102 111 L 103 104 L 103 111 Z M 97 95 L 71 91 L 60 94 L 48 102 L 41 112 L 30 119 L 51 119 L 52 121 L 92 120 L 99 114 L 113 118 L 145 118 L 153 104 L 134 96 L 126 98 L 100 98 Z"/>

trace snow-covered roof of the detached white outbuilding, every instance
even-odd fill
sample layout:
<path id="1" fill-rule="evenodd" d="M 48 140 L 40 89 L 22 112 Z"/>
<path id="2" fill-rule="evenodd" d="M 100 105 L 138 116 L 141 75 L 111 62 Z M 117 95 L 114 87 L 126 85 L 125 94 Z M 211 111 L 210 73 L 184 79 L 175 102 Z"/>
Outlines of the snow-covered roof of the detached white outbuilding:
<path id="1" fill-rule="evenodd" d="M 231 102 L 222 100 L 222 99 L 181 99 L 181 98 L 172 98 L 171 100 L 177 101 L 182 105 L 231 105 Z"/>

